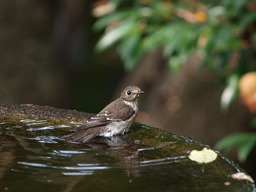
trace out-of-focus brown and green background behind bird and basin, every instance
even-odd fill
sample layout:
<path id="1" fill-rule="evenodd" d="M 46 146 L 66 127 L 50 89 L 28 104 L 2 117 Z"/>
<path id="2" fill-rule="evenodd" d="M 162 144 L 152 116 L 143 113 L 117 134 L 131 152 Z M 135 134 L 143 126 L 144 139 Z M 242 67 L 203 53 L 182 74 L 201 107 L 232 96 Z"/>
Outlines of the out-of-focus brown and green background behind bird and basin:
<path id="1" fill-rule="evenodd" d="M 98 113 L 135 85 L 145 92 L 136 121 L 224 149 L 255 178 L 255 1 L 4 0 L 0 9 L 1 104 Z"/>

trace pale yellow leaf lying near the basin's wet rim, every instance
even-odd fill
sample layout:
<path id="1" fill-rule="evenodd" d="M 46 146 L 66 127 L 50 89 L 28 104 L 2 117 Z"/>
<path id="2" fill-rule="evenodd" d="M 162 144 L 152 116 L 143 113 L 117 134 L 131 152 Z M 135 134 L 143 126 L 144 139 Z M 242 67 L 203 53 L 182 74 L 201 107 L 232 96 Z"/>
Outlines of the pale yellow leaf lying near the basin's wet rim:
<path id="1" fill-rule="evenodd" d="M 193 150 L 190 152 L 188 158 L 192 161 L 196 161 L 198 163 L 210 163 L 217 158 L 218 154 L 206 147 L 201 151 Z"/>

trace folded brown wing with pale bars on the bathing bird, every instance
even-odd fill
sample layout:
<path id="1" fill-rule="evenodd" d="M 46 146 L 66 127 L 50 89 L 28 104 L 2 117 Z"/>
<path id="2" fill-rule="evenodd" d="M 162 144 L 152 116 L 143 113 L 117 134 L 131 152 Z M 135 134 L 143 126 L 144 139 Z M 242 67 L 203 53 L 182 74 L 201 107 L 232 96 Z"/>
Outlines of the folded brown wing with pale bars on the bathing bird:
<path id="1" fill-rule="evenodd" d="M 112 106 L 111 108 L 107 106 L 96 116 L 91 117 L 91 119 L 88 119 L 84 124 L 81 124 L 70 131 L 101 127 L 110 124 L 113 121 L 125 121 L 131 118 L 134 113 L 135 111 L 130 106 L 125 104 L 121 104 L 118 108 L 116 106 Z"/>

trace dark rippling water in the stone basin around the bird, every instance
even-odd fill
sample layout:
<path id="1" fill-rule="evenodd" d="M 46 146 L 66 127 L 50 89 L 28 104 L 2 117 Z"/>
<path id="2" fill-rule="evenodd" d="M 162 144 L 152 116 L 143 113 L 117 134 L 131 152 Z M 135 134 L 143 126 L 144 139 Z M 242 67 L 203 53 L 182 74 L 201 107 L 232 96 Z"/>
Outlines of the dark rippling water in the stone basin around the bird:
<path id="1" fill-rule="evenodd" d="M 253 184 L 234 181 L 227 172 L 216 175 L 210 164 L 192 162 L 190 151 L 159 155 L 174 146 L 175 136 L 155 145 L 127 133 L 99 137 L 85 145 L 59 139 L 78 122 L 55 125 L 45 119 L 19 119 L 0 123 L 0 191 L 255 190 Z M 153 129 L 143 126 L 140 129 Z M 219 156 L 218 161 L 227 163 L 228 159 Z M 227 170 L 239 171 L 229 164 Z M 225 186 L 223 178 L 231 185 Z"/>

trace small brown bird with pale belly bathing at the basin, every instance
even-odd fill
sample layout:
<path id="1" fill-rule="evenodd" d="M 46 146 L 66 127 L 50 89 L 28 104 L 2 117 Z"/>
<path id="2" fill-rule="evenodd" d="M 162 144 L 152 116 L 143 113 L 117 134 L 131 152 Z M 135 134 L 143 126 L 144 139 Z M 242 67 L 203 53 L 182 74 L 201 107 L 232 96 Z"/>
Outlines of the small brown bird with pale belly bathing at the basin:
<path id="1" fill-rule="evenodd" d="M 111 137 L 124 134 L 134 122 L 138 113 L 138 97 L 144 93 L 139 87 L 128 86 L 118 99 L 107 105 L 96 116 L 70 131 L 71 135 L 62 137 L 69 141 L 88 143 L 96 136 Z"/>

